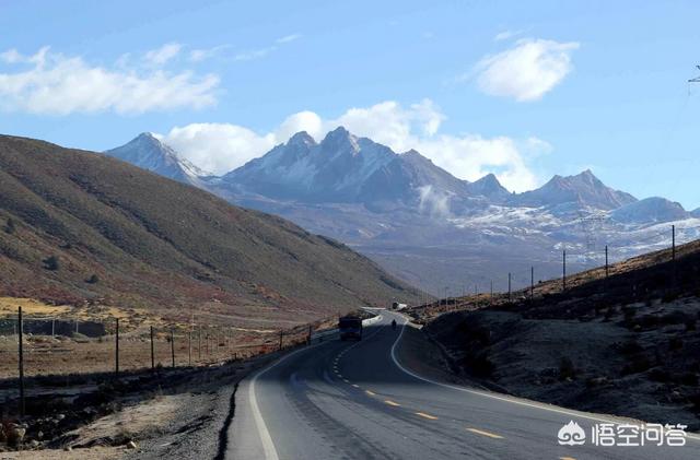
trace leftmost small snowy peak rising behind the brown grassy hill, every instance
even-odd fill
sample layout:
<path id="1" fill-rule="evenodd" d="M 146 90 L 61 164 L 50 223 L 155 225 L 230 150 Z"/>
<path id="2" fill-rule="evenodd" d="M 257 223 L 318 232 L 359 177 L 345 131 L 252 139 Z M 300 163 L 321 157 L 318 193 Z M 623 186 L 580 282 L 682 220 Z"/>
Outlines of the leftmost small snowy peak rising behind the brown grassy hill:
<path id="1" fill-rule="evenodd" d="M 197 187 L 202 187 L 202 179 L 210 176 L 180 157 L 171 146 L 159 141 L 150 132 L 143 132 L 127 144 L 104 153 L 161 176 Z"/>

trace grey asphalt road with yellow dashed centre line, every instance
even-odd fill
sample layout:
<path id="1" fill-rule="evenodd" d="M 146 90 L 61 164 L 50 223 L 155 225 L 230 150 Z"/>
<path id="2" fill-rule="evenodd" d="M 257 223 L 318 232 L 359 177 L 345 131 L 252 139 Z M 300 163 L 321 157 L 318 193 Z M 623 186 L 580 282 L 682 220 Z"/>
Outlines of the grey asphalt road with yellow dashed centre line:
<path id="1" fill-rule="evenodd" d="M 226 458 L 700 459 L 697 435 L 684 447 L 594 446 L 593 425 L 611 420 L 425 380 L 395 353 L 402 326 L 388 325 L 404 319 L 382 316 L 361 342 L 327 338 L 244 380 Z M 570 421 L 584 445 L 558 444 Z"/>

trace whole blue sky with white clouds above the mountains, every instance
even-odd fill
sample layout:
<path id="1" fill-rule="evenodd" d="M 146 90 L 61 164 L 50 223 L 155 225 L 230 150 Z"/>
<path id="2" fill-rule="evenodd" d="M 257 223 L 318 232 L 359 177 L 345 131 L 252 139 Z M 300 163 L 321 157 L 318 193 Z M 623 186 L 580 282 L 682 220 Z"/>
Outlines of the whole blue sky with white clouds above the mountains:
<path id="1" fill-rule="evenodd" d="M 343 123 L 466 179 L 523 190 L 590 167 L 695 209 L 698 17 L 692 1 L 0 0 L 0 132 L 105 150 L 152 131 L 222 172 Z"/>

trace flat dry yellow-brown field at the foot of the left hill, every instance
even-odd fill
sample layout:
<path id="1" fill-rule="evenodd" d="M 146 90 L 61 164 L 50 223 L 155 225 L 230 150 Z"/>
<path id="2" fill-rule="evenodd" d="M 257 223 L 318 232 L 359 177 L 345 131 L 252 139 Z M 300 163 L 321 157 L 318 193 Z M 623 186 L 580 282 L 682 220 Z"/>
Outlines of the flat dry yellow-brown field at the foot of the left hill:
<path id="1" fill-rule="evenodd" d="M 0 319 L 0 379 L 205 366 L 248 358 L 308 340 L 311 328 L 249 332 L 210 325 L 141 326 L 49 317 Z M 22 340 L 22 355 L 20 354 Z"/>

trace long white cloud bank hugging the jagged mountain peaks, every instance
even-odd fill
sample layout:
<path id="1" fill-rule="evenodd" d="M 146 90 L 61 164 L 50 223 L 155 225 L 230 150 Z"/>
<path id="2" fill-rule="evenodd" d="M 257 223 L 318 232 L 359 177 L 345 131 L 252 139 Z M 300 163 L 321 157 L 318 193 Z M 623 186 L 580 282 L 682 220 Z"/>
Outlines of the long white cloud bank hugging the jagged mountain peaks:
<path id="1" fill-rule="evenodd" d="M 440 127 L 445 115 L 430 99 L 404 107 L 387 101 L 370 107 L 350 108 L 334 119 L 323 119 L 313 111 L 293 114 L 268 133 L 229 123 L 195 123 L 174 128 L 162 138 L 186 158 L 215 174 L 232 170 L 295 132 L 307 131 L 320 141 L 330 130 L 345 126 L 350 132 L 390 146 L 396 152 L 416 149 L 456 177 L 476 180 L 494 173 L 503 185 L 515 191 L 532 189 L 539 178 L 528 161 L 551 146 L 537 138 L 514 140 L 508 137 L 483 138 L 479 134 L 443 134 Z M 441 197 L 430 190 L 425 204 L 440 211 Z"/>

